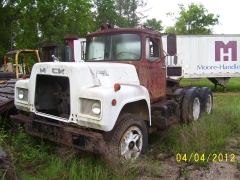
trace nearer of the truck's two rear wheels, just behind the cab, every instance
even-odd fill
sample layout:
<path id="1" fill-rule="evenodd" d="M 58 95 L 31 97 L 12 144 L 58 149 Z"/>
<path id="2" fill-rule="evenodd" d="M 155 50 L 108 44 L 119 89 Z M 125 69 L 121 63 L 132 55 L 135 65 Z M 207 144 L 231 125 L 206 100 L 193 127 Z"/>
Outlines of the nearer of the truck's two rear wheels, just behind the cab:
<path id="1" fill-rule="evenodd" d="M 200 94 L 196 89 L 188 89 L 182 103 L 183 122 L 197 121 L 200 117 Z"/>

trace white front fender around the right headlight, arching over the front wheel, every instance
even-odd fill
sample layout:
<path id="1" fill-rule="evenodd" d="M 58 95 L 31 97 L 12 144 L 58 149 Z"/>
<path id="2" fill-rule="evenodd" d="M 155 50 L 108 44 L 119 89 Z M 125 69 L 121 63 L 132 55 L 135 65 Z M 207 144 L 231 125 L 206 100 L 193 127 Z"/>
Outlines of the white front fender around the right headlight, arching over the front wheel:
<path id="1" fill-rule="evenodd" d="M 79 98 L 99 100 L 101 102 L 102 109 L 101 116 L 98 120 L 93 118 L 79 117 L 77 123 L 79 125 L 96 128 L 103 131 L 111 131 L 126 104 L 145 101 L 148 112 L 147 120 L 149 120 L 151 125 L 150 98 L 147 89 L 141 85 L 131 84 L 121 84 L 119 91 L 114 91 L 113 87 L 114 85 L 108 87 L 98 86 L 92 88 L 82 88 L 79 91 Z M 112 105 L 113 100 L 116 101 L 116 105 Z M 79 102 L 79 104 L 81 104 L 81 102 Z"/>

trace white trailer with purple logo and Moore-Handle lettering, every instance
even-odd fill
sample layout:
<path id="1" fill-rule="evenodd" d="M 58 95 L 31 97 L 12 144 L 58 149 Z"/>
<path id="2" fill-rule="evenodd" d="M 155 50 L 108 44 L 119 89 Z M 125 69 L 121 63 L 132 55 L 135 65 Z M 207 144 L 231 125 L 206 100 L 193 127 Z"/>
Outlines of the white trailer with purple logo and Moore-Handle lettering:
<path id="1" fill-rule="evenodd" d="M 166 62 L 182 67 L 182 75 L 172 78 L 208 78 L 226 91 L 229 79 L 240 77 L 240 34 L 177 35 L 177 42 L 178 61 L 168 57 Z M 163 47 L 167 48 L 166 38 Z"/>

